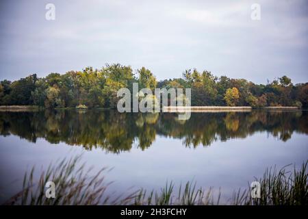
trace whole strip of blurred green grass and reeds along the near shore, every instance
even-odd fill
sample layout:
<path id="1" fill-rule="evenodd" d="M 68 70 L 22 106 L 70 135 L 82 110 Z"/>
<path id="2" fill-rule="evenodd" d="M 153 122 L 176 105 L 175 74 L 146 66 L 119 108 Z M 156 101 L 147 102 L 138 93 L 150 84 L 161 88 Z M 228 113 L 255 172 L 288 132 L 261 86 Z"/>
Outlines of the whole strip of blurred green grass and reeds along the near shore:
<path id="1" fill-rule="evenodd" d="M 220 203 L 220 192 L 212 188 L 196 188 L 188 181 L 175 190 L 175 184 L 166 183 L 159 191 L 144 189 L 124 196 L 106 195 L 110 183 L 105 182 L 101 169 L 88 177 L 90 169 L 78 165 L 80 157 L 62 160 L 40 172 L 40 179 L 34 180 L 34 168 L 25 173 L 23 189 L 12 196 L 5 205 L 307 205 L 307 162 L 299 170 L 285 166 L 281 170 L 268 168 L 261 179 L 261 197 L 251 198 L 251 188 L 238 190 L 227 203 Z M 44 187 L 47 181 L 55 183 L 55 198 L 46 198 Z"/>

